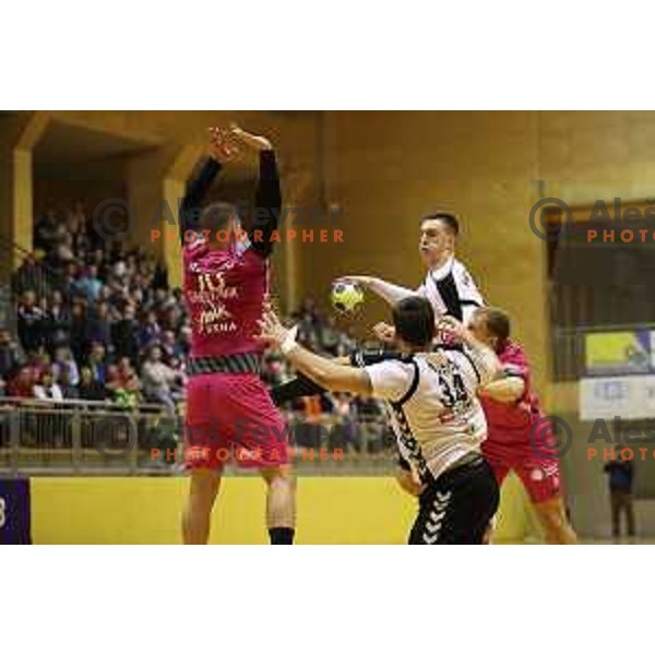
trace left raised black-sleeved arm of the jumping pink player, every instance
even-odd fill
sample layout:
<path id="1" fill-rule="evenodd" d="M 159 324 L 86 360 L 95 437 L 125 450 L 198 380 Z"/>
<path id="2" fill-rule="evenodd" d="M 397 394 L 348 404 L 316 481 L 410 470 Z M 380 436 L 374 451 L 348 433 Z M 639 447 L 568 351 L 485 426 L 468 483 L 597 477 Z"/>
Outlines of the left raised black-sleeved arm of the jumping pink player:
<path id="1" fill-rule="evenodd" d="M 180 242 L 184 245 L 188 230 L 198 228 L 202 203 L 221 172 L 224 164 L 239 154 L 239 148 L 224 128 L 210 128 L 210 156 L 203 162 L 198 175 L 189 181 L 180 204 Z"/>

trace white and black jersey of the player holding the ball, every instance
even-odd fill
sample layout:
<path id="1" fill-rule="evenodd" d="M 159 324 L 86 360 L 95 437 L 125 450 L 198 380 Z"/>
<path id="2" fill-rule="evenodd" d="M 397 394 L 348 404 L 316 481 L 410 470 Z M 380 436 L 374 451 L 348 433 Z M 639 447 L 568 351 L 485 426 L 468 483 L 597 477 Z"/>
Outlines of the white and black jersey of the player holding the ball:
<path id="1" fill-rule="evenodd" d="M 450 258 L 434 271 L 428 271 L 417 293 L 430 301 L 437 317 L 450 314 L 465 324 L 478 307 L 485 306 L 466 266 L 455 258 Z"/>

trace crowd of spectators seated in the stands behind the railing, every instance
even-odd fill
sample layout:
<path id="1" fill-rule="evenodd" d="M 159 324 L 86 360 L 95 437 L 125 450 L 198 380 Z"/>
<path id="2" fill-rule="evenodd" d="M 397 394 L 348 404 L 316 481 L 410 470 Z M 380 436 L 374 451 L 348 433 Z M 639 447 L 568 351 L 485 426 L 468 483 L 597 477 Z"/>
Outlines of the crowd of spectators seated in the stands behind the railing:
<path id="1" fill-rule="evenodd" d="M 34 245 L 12 279 L 17 335 L 0 330 L 0 395 L 126 408 L 155 403 L 174 416 L 183 401 L 191 326 L 165 267 L 140 248 L 105 241 L 81 203 L 37 216 Z M 315 352 L 342 356 L 354 346 L 310 298 L 293 319 Z M 291 374 L 283 359 L 265 357 L 267 384 Z M 380 412 L 347 394 L 302 398 L 287 409 L 309 425 L 338 417 L 349 441 L 357 417 Z"/>

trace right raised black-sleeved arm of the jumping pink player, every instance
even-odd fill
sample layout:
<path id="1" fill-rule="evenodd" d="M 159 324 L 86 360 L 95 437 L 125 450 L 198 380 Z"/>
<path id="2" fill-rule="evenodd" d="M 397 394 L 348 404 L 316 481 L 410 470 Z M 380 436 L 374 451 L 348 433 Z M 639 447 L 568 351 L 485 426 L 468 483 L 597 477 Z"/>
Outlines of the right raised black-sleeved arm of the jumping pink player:
<path id="1" fill-rule="evenodd" d="M 277 229 L 282 212 L 282 190 L 275 151 L 267 139 L 246 132 L 238 126 L 231 126 L 230 134 L 237 143 L 259 152 L 259 181 L 252 227 L 248 237 L 251 249 L 267 258 L 273 252 L 271 236 Z"/>

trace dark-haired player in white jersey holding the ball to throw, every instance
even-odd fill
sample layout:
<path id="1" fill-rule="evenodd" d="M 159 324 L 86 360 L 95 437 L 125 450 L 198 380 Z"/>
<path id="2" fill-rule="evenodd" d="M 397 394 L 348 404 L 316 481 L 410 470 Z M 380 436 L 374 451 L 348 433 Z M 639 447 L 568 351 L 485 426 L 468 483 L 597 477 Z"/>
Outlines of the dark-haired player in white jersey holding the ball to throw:
<path id="1" fill-rule="evenodd" d="M 360 284 L 392 306 L 409 296 L 424 296 L 432 305 L 437 317 L 448 314 L 467 324 L 485 300 L 466 266 L 455 259 L 458 234 L 457 218 L 448 212 L 438 212 L 421 219 L 418 249 L 428 272 L 416 290 L 366 275 L 348 275 L 342 279 Z M 393 331 L 386 323 L 379 323 L 376 334 L 382 341 L 393 341 Z"/>

